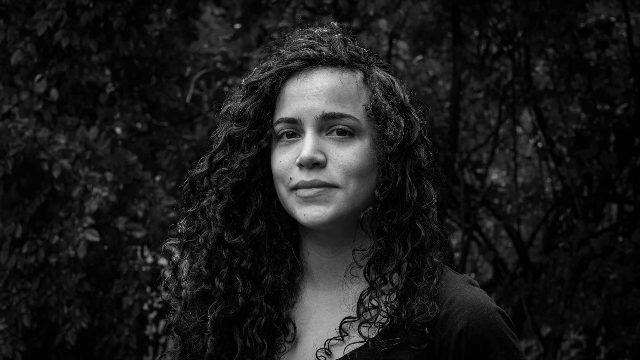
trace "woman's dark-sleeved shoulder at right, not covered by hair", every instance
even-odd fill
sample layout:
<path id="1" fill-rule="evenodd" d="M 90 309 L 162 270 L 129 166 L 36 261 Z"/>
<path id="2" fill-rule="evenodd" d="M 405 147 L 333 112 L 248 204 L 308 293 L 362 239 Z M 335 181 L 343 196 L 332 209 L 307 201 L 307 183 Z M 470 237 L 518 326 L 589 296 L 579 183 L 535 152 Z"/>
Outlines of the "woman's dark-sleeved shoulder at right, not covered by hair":
<path id="1" fill-rule="evenodd" d="M 509 316 L 468 275 L 445 267 L 437 303 L 432 338 L 438 359 L 524 359 Z"/>

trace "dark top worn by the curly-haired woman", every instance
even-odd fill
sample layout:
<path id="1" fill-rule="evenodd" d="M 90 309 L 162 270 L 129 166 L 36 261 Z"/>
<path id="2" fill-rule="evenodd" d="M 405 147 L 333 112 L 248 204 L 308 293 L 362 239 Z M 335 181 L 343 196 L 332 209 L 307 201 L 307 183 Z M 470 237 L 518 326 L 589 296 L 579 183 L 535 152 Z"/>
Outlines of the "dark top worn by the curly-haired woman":
<path id="1" fill-rule="evenodd" d="M 440 281 L 440 313 L 427 327 L 429 336 L 422 329 L 418 332 L 424 340 L 412 337 L 428 347 L 414 349 L 404 341 L 395 341 L 381 350 L 380 356 L 374 356 L 365 343 L 338 360 L 525 359 L 513 323 L 474 279 L 447 267 Z M 390 329 L 381 330 L 378 337 L 399 338 L 396 330 Z"/>

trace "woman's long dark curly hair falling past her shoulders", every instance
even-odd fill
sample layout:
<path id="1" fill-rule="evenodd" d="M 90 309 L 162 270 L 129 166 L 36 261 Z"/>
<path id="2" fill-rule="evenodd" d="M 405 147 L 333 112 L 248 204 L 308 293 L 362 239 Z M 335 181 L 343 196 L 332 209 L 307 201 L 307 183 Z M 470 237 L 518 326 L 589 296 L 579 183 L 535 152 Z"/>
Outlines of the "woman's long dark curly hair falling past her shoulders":
<path id="1" fill-rule="evenodd" d="M 188 173 L 178 235 L 164 244 L 173 341 L 166 351 L 174 359 L 278 359 L 296 337 L 289 313 L 304 268 L 298 228 L 271 176 L 271 118 L 285 81 L 314 67 L 363 75 L 380 166 L 374 199 L 359 222 L 371 243 L 353 250 L 349 266 L 362 269 L 355 254 L 366 254 L 367 288 L 356 316 L 340 321 L 340 335 L 326 340 L 316 358 L 332 354 L 332 341 L 344 341 L 347 323 L 362 321 L 360 343 L 372 349 L 384 341 L 372 347 L 363 326 L 384 319 L 385 329 L 395 327 L 410 340 L 410 327 L 426 329 L 438 313 L 438 280 L 451 241 L 436 217 L 440 178 L 426 122 L 376 54 L 336 22 L 316 24 L 292 33 L 230 90 L 207 154 Z"/>

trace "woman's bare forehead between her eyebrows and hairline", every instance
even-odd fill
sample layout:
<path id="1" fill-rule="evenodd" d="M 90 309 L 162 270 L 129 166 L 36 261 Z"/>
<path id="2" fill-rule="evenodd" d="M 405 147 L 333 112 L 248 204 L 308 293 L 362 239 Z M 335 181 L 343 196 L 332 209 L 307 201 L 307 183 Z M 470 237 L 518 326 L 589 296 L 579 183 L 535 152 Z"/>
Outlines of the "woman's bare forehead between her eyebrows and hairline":
<path id="1" fill-rule="evenodd" d="M 369 90 L 360 72 L 319 67 L 296 72 L 276 99 L 275 116 L 288 111 L 364 111 Z M 355 115 L 355 114 L 354 114 Z"/>

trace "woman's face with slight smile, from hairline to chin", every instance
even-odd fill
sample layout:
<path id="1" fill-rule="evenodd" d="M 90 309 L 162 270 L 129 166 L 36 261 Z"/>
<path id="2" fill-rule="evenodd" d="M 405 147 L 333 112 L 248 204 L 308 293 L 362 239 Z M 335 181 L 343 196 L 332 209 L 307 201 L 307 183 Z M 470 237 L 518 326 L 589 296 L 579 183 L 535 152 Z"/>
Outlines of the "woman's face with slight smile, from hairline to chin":
<path id="1" fill-rule="evenodd" d="M 362 75 L 316 68 L 289 78 L 276 99 L 271 171 L 280 202 L 308 229 L 349 227 L 378 178 Z"/>

